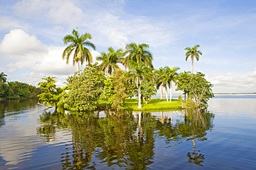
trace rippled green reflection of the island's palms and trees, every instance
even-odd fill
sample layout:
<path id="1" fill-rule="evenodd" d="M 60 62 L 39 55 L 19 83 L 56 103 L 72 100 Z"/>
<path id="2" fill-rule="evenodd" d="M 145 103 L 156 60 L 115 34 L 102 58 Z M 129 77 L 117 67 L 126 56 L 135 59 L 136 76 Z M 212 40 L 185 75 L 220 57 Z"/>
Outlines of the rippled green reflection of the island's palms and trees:
<path id="1" fill-rule="evenodd" d="M 179 111 L 175 122 L 173 111 L 161 112 L 158 118 L 152 113 L 125 111 L 92 112 L 84 115 L 64 114 L 64 111 L 46 109 L 40 116 L 42 123 L 37 134 L 45 142 L 56 138 L 59 129 L 71 129 L 72 154 L 62 153 L 64 169 L 95 169 L 96 164 L 125 169 L 148 169 L 154 160 L 156 140 L 163 139 L 166 145 L 191 141 L 188 162 L 203 166 L 203 153 L 196 151 L 196 139 L 207 140 L 206 131 L 211 130 L 214 114 L 203 110 Z M 104 114 L 104 116 L 100 116 Z M 174 145 L 174 147 L 175 147 Z M 96 158 L 96 161 L 95 161 Z"/>

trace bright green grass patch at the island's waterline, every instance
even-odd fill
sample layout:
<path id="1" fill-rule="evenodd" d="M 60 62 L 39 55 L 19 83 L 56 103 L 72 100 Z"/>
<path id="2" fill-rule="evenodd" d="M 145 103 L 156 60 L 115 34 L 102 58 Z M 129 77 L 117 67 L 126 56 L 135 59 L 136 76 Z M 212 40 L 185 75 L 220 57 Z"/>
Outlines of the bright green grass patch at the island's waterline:
<path id="1" fill-rule="evenodd" d="M 177 99 L 172 99 L 172 102 L 167 102 L 166 99 L 152 98 L 151 102 L 147 104 L 142 104 L 142 109 L 138 109 L 138 99 L 137 98 L 127 98 L 125 99 L 125 105 L 123 105 L 125 110 L 134 111 L 145 111 L 145 110 L 156 110 L 156 109 L 181 109 L 181 102 Z"/>

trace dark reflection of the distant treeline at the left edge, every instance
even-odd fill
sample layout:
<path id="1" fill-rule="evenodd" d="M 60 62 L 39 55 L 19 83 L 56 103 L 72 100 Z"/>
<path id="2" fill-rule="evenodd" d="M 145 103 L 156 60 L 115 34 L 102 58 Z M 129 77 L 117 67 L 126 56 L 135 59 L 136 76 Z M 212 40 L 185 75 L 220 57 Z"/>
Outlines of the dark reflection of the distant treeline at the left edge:
<path id="1" fill-rule="evenodd" d="M 0 127 L 5 125 L 5 117 L 22 114 L 28 107 L 34 107 L 37 99 L 0 101 Z"/>

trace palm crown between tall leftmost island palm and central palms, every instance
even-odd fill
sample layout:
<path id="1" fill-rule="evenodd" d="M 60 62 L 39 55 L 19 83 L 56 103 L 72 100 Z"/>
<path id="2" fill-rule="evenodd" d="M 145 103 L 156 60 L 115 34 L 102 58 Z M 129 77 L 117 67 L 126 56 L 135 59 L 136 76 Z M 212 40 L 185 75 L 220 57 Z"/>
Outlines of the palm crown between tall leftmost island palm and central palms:
<path id="1" fill-rule="evenodd" d="M 99 67 L 106 73 L 106 76 L 110 76 L 113 70 L 120 70 L 120 67 L 117 65 L 117 63 L 122 63 L 124 59 L 124 53 L 122 52 L 122 49 L 118 49 L 115 52 L 112 47 L 109 47 L 108 51 L 108 54 L 102 52 L 100 56 L 96 58 L 97 61 L 102 61 Z"/>

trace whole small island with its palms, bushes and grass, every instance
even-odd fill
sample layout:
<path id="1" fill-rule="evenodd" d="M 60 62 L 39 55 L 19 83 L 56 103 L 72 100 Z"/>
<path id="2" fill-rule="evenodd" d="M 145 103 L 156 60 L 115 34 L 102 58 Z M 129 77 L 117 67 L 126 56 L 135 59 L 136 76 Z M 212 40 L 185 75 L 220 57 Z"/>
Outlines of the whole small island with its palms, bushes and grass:
<path id="1" fill-rule="evenodd" d="M 199 60 L 197 50 L 199 45 L 187 47 L 185 61 L 188 56 L 192 59 L 192 71 L 178 73 L 179 67 L 153 66 L 153 55 L 149 45 L 145 43 L 129 43 L 125 49 L 114 50 L 109 47 L 108 52 L 101 52 L 93 63 L 90 50 L 96 47 L 91 43 L 89 33 L 80 34 L 73 30 L 72 34 L 64 36 L 63 42 L 68 45 L 62 54 L 62 59 L 68 64 L 73 58 L 73 65 L 77 65 L 77 72 L 66 79 L 66 87 L 55 85 L 55 77 L 44 77 L 39 83 L 44 89 L 39 94 L 39 99 L 45 104 L 57 104 L 71 111 L 93 111 L 97 109 L 147 110 L 147 109 L 183 109 L 188 107 L 207 107 L 207 101 L 212 98 L 212 84 L 204 78 L 204 74 L 193 74 L 193 59 Z M 84 70 L 80 64 L 87 63 Z M 120 66 L 123 65 L 125 70 Z M 177 89 L 183 91 L 184 100 L 172 99 L 172 84 L 176 83 Z M 161 98 L 152 99 L 157 89 L 161 88 Z M 166 98 L 163 99 L 163 88 Z M 170 89 L 168 98 L 167 88 Z M 186 100 L 186 96 L 188 99 Z"/>

